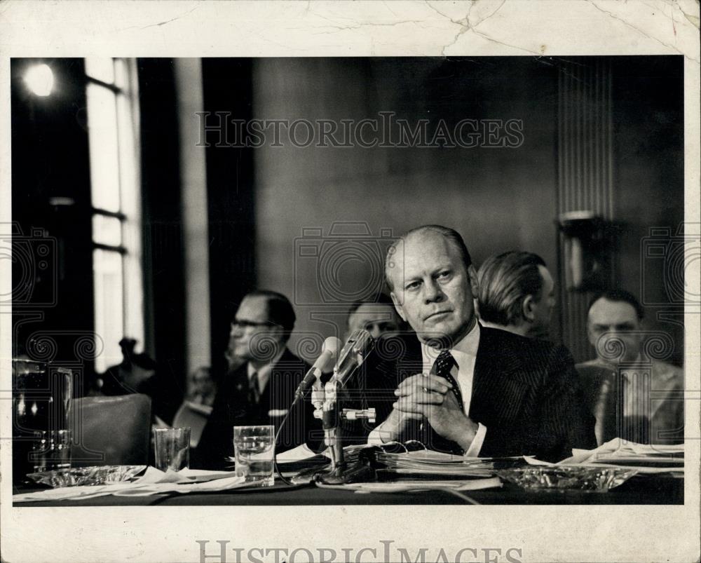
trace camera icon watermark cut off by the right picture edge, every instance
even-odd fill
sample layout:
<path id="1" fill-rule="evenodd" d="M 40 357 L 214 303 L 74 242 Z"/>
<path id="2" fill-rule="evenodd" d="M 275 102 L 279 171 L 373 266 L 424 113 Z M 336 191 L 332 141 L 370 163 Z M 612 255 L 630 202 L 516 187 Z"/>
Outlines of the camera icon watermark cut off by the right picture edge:
<path id="1" fill-rule="evenodd" d="M 701 305 L 701 294 L 687 279 L 688 272 L 701 266 L 701 224 L 682 223 L 674 233 L 668 226 L 656 226 L 648 233 L 640 247 L 642 304 Z"/>

